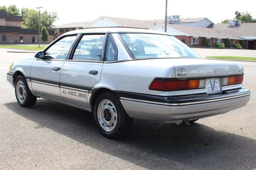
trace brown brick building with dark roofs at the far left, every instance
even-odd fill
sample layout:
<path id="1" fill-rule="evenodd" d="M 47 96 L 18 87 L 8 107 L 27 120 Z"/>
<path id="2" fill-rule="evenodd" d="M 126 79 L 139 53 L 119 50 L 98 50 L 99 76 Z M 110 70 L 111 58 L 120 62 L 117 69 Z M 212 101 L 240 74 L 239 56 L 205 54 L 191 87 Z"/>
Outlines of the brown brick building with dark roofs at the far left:
<path id="1" fill-rule="evenodd" d="M 38 29 L 21 28 L 22 16 L 7 15 L 0 11 L 0 44 L 37 44 Z M 49 41 L 40 44 L 48 44 L 54 40 L 54 30 L 48 30 Z"/>

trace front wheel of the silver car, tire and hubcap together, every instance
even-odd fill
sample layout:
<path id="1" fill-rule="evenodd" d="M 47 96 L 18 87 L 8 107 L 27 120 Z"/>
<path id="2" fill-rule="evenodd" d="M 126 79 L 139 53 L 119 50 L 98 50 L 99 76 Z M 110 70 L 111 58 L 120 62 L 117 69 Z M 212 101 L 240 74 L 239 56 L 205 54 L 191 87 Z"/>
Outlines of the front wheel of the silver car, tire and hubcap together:
<path id="1" fill-rule="evenodd" d="M 18 76 L 15 79 L 15 96 L 19 105 L 23 107 L 31 107 L 37 101 L 37 97 L 31 93 L 23 76 Z"/>

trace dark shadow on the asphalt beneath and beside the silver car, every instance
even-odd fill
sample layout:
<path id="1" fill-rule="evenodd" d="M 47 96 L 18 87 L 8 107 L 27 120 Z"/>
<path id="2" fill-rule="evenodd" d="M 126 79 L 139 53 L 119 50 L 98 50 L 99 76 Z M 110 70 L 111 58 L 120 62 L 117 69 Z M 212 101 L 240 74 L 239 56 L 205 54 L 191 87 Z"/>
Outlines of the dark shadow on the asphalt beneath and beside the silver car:
<path id="1" fill-rule="evenodd" d="M 86 111 L 40 99 L 32 108 L 17 102 L 5 106 L 38 124 L 82 144 L 139 164 L 144 168 L 162 169 L 254 169 L 256 140 L 216 131 L 194 123 L 189 127 L 159 121 L 135 119 L 131 133 L 123 140 L 104 138 Z"/>

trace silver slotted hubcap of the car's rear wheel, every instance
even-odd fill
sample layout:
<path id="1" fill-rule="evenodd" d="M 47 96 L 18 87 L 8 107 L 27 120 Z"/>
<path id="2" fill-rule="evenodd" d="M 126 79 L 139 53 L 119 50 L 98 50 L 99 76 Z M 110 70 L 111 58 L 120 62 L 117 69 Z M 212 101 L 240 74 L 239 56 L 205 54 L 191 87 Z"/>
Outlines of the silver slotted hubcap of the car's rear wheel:
<path id="1" fill-rule="evenodd" d="M 104 99 L 100 102 L 97 110 L 97 116 L 100 126 L 110 132 L 114 130 L 117 124 L 117 110 L 113 102 Z"/>

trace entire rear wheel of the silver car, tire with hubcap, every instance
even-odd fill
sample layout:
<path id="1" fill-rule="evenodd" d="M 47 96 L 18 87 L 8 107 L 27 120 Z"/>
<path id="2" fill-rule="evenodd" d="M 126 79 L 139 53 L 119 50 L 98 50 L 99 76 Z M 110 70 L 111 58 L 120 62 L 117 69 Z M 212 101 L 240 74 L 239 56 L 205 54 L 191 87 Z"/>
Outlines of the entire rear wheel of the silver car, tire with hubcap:
<path id="1" fill-rule="evenodd" d="M 107 138 L 122 138 L 129 131 L 133 119 L 113 93 L 103 93 L 96 100 L 94 118 L 98 129 Z"/>

